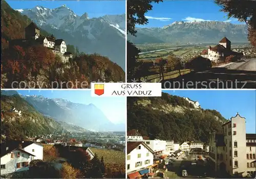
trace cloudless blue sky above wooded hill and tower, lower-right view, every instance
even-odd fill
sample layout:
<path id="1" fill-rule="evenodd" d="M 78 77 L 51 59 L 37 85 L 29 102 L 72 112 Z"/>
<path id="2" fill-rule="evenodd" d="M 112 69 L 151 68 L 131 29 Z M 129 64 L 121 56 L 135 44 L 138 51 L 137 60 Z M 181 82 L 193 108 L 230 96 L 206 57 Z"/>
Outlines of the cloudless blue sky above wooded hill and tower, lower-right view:
<path id="1" fill-rule="evenodd" d="M 203 109 L 215 109 L 226 118 L 235 117 L 237 113 L 246 120 L 246 132 L 255 133 L 256 91 L 244 90 L 196 90 L 196 91 L 163 91 L 171 95 L 188 97 L 198 101 Z"/>

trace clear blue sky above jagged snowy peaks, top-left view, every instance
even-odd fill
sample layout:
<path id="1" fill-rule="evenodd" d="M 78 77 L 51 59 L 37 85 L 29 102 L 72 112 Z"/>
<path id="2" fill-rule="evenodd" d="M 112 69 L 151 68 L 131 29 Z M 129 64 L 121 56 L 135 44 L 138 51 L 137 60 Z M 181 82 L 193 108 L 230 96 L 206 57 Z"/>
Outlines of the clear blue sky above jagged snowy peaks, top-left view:
<path id="1" fill-rule="evenodd" d="M 125 13 L 125 1 L 6 1 L 13 9 L 32 9 L 44 6 L 49 9 L 66 5 L 77 15 L 85 12 L 90 18 Z"/>

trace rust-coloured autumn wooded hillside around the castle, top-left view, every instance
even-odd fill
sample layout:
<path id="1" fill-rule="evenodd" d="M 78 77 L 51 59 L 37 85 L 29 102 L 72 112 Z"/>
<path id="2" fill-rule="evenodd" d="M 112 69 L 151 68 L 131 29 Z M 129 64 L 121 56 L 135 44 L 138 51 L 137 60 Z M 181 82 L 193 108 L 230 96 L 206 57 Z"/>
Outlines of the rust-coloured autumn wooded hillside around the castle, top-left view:
<path id="1" fill-rule="evenodd" d="M 99 54 L 88 55 L 79 53 L 79 51 L 74 53 L 74 46 L 79 46 L 79 44 L 68 46 L 74 55 L 73 60 L 65 64 L 46 47 L 14 46 L 9 49 L 8 41 L 24 38 L 24 28 L 31 20 L 26 15 L 13 10 L 5 1 L 1 1 L 1 3 L 1 87 L 20 88 L 20 86 L 12 86 L 12 82 L 24 81 L 27 85 L 29 82 L 36 82 L 32 86 L 22 86 L 24 88 L 88 88 L 92 81 L 117 82 L 125 80 L 123 69 L 108 57 Z M 48 33 L 42 31 L 42 35 L 48 36 Z M 68 82 L 69 84 L 67 84 Z"/>

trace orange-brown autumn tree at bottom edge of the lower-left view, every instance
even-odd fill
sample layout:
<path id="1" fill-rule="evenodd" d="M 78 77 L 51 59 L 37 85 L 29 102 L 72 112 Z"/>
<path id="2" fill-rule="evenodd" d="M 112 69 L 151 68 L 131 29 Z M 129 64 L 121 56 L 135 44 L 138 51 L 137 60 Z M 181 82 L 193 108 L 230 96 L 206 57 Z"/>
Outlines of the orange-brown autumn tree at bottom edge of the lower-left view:
<path id="1" fill-rule="evenodd" d="M 81 177 L 80 170 L 72 167 L 67 162 L 62 164 L 60 173 L 61 173 L 61 178 L 80 178 Z"/>

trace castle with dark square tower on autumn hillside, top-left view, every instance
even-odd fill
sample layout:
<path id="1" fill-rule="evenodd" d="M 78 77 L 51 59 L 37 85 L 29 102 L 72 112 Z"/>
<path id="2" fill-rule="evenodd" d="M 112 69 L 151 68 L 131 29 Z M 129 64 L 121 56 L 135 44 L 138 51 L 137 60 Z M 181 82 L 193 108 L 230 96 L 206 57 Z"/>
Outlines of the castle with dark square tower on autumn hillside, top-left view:
<path id="1" fill-rule="evenodd" d="M 45 37 L 40 35 L 40 29 L 35 23 L 30 23 L 25 28 L 25 39 L 11 40 L 10 46 L 44 46 L 52 50 L 55 55 L 60 56 L 63 63 L 69 62 L 70 58 L 73 58 L 72 53 L 67 52 L 67 46 L 63 39 L 55 39 L 53 35 Z"/>

